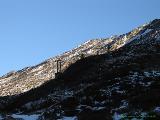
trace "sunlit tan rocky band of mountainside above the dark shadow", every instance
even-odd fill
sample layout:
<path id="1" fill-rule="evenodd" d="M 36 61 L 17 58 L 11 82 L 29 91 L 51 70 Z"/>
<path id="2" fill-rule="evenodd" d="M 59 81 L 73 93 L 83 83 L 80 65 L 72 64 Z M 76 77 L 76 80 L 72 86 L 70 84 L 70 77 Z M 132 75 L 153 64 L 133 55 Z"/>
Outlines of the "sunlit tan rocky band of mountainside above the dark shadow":
<path id="1" fill-rule="evenodd" d="M 50 79 L 53 79 L 56 73 L 56 60 L 57 59 L 62 60 L 62 64 L 63 64 L 62 70 L 64 71 L 69 65 L 73 64 L 75 61 L 80 59 L 81 54 L 85 54 L 85 57 L 87 57 L 87 56 L 96 55 L 96 54 L 104 54 L 104 53 L 107 53 L 108 51 L 114 51 L 116 49 L 119 49 L 123 47 L 125 44 L 128 44 L 129 42 L 127 43 L 127 41 L 131 40 L 131 38 L 133 38 L 134 40 L 135 39 L 134 36 L 136 36 L 136 34 L 138 34 L 140 31 L 145 29 L 145 27 L 148 24 L 142 25 L 132 30 L 131 32 L 123 34 L 123 35 L 119 35 L 119 36 L 115 36 L 111 38 L 89 40 L 85 42 L 84 44 L 79 45 L 78 47 L 72 49 L 71 51 L 67 51 L 53 58 L 47 59 L 38 65 L 35 65 L 32 67 L 26 67 L 19 71 L 10 72 L 0 77 L 0 81 L 1 82 L 6 81 L 6 83 L 8 83 L 9 81 L 13 81 L 13 80 L 20 80 L 20 82 L 21 81 L 27 82 L 30 79 L 30 82 L 33 82 L 33 84 L 31 84 L 30 86 L 28 85 L 24 86 L 25 83 L 23 83 L 23 85 L 19 86 L 18 85 L 19 83 L 18 84 L 15 83 L 14 86 L 17 85 L 17 88 L 12 87 L 10 89 L 10 93 L 3 92 L 3 93 L 0 93 L 0 95 L 6 96 L 6 95 L 14 95 L 14 94 L 26 92 L 32 88 L 42 85 L 44 82 Z M 9 86 L 4 85 L 4 87 L 0 89 L 2 91 L 6 91 L 5 88 L 8 88 L 8 87 Z"/>

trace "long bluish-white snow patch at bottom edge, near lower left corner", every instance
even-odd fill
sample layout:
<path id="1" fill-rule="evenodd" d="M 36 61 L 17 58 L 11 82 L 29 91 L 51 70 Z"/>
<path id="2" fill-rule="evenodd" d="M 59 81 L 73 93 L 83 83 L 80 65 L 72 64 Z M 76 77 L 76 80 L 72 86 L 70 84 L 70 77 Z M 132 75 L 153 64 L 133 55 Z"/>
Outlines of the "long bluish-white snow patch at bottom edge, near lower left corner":
<path id="1" fill-rule="evenodd" d="M 13 114 L 12 115 L 13 118 L 18 118 L 18 119 L 23 119 L 23 120 L 37 120 L 39 115 L 17 115 L 17 114 Z"/>

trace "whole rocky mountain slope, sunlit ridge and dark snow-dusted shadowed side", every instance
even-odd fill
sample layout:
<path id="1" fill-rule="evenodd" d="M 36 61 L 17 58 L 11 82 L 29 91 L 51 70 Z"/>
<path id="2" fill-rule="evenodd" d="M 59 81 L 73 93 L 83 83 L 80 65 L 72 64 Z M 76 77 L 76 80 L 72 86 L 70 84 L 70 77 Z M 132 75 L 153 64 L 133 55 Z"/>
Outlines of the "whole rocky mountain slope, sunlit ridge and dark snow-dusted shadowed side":
<path id="1" fill-rule="evenodd" d="M 58 59 L 62 75 L 55 78 Z M 2 76 L 0 110 L 36 114 L 42 120 L 158 119 L 159 61 L 160 20 L 156 19 Z"/>

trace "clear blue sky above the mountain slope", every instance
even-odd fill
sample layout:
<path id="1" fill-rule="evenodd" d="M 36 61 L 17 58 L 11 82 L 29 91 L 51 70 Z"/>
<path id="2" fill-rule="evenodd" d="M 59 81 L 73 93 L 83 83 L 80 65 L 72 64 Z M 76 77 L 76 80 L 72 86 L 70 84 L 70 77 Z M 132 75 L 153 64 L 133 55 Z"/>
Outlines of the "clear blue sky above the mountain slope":
<path id="1" fill-rule="evenodd" d="M 1 0 L 0 75 L 160 17 L 160 0 Z"/>

